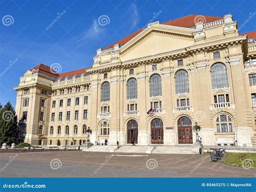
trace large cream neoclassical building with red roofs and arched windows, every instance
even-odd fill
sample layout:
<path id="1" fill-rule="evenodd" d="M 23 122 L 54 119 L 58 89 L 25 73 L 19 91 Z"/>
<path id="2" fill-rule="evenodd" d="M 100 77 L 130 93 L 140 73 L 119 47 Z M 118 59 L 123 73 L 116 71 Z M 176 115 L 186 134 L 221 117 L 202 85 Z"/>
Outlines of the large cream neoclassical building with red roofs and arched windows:
<path id="1" fill-rule="evenodd" d="M 189 145 L 198 124 L 205 146 L 255 146 L 255 39 L 230 14 L 190 15 L 98 49 L 89 68 L 37 65 L 15 87 L 25 142 Z"/>

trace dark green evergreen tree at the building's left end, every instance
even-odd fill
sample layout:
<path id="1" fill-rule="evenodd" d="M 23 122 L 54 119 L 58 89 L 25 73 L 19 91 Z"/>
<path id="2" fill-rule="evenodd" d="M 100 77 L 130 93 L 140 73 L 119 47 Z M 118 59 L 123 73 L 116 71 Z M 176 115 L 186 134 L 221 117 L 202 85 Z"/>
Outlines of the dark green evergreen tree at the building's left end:
<path id="1" fill-rule="evenodd" d="M 14 107 L 8 102 L 0 110 L 0 144 L 17 144 L 24 141 L 24 136 L 24 128 L 19 129 Z"/>

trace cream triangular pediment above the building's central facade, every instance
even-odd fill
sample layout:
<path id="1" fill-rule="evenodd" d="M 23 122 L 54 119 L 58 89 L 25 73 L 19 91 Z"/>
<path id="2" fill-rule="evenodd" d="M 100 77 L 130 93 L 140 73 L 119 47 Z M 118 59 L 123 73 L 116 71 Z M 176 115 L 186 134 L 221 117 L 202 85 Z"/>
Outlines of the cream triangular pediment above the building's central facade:
<path id="1" fill-rule="evenodd" d="M 157 24 L 140 32 L 120 48 L 122 60 L 184 49 L 194 43 L 194 29 Z"/>

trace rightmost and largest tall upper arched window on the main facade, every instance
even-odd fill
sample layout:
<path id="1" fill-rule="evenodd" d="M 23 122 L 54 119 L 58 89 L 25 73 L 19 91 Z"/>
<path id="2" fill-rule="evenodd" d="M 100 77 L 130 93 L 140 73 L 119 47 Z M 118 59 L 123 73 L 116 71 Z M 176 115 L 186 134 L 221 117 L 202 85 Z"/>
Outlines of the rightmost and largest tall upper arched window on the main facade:
<path id="1" fill-rule="evenodd" d="M 228 87 L 227 68 L 223 63 L 211 67 L 212 89 Z"/>

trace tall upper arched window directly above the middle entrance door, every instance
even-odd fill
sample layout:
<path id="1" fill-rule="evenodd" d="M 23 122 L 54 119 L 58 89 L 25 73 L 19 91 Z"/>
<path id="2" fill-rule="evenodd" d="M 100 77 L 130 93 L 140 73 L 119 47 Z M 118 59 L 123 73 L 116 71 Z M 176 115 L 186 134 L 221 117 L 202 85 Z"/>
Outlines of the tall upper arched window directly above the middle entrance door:
<path id="1" fill-rule="evenodd" d="M 159 74 L 153 74 L 150 77 L 150 97 L 162 95 L 161 77 Z"/>

